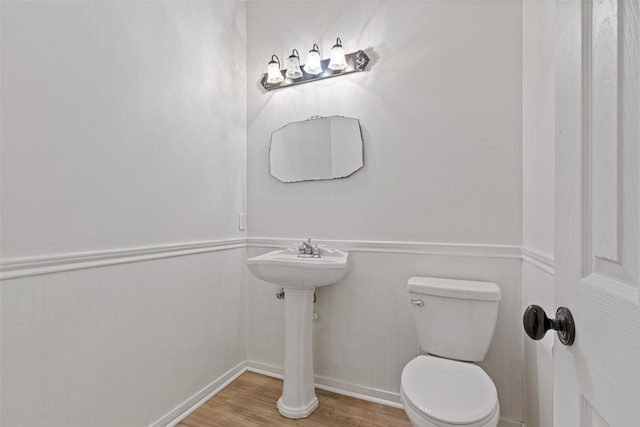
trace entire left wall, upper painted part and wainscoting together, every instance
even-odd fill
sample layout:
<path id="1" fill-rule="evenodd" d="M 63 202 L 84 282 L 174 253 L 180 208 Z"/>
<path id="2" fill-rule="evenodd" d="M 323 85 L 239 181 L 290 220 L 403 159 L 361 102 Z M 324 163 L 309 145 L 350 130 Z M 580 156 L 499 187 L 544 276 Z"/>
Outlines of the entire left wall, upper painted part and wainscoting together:
<path id="1" fill-rule="evenodd" d="M 1 7 L 0 424 L 167 421 L 246 359 L 246 5 Z"/>

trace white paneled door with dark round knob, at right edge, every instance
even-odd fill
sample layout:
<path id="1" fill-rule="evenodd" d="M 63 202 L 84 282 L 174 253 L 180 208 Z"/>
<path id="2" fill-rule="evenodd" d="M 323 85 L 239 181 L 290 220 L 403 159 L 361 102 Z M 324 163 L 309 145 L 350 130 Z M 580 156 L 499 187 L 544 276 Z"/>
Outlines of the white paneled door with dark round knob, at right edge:
<path id="1" fill-rule="evenodd" d="M 557 1 L 556 427 L 640 426 L 639 3 Z"/>

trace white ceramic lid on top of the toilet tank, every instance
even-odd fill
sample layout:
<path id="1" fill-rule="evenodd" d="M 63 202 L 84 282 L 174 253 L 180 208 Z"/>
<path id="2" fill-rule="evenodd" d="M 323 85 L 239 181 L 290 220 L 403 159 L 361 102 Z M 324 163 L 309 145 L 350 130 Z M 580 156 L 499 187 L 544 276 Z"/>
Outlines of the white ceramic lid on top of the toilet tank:
<path id="1" fill-rule="evenodd" d="M 481 301 L 500 301 L 500 287 L 492 282 L 413 276 L 407 290 L 424 295 Z"/>

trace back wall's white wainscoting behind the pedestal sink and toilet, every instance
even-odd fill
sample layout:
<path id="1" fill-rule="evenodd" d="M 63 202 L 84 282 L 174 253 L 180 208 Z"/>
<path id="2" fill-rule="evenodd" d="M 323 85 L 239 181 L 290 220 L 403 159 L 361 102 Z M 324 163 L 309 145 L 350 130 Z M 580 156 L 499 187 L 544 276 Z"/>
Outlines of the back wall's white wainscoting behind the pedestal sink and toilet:
<path id="1" fill-rule="evenodd" d="M 295 243 L 250 238 L 248 256 Z M 317 289 L 316 383 L 398 404 L 400 374 L 418 353 L 407 303 L 413 275 L 496 282 L 502 303 L 493 344 L 481 364 L 498 388 L 503 425 L 522 420 L 521 252 L 517 246 L 318 241 L 350 252 L 350 272 Z M 281 372 L 283 302 L 278 287 L 247 274 L 248 365 Z M 506 423 L 506 424 L 505 424 Z"/>

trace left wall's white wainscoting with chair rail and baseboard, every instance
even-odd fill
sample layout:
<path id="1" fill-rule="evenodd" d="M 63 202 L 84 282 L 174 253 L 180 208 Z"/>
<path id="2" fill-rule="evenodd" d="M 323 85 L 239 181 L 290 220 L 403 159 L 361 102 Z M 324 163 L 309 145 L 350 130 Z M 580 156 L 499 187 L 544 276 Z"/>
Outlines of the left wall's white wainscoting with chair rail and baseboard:
<path id="1" fill-rule="evenodd" d="M 245 254 L 242 240 L 5 262 L 0 424 L 170 422 L 244 370 Z"/>

